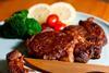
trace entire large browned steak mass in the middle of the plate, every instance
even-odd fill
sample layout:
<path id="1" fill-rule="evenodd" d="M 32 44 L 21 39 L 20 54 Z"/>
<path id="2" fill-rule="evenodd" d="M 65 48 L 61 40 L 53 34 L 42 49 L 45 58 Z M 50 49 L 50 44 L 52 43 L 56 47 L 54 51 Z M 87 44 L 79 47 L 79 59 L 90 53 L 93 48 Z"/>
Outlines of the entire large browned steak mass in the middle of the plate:
<path id="1" fill-rule="evenodd" d="M 93 17 L 80 21 L 78 25 L 70 25 L 59 33 L 40 33 L 28 39 L 27 47 L 32 54 L 40 59 L 70 60 L 73 54 L 75 62 L 98 59 L 107 39 L 104 29 L 93 21 Z M 68 49 L 72 50 L 70 54 Z"/>

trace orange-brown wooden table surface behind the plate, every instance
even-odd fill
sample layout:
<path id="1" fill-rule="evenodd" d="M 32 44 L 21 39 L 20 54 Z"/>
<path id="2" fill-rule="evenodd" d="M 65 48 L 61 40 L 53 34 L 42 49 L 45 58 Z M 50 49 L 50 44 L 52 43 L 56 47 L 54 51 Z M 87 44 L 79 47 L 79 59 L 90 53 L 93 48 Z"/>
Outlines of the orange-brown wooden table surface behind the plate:
<path id="1" fill-rule="evenodd" d="M 70 2 L 77 11 L 99 16 L 109 22 L 109 0 L 0 0 L 0 21 L 9 17 L 13 12 L 27 9 L 39 2 L 53 3 Z"/>

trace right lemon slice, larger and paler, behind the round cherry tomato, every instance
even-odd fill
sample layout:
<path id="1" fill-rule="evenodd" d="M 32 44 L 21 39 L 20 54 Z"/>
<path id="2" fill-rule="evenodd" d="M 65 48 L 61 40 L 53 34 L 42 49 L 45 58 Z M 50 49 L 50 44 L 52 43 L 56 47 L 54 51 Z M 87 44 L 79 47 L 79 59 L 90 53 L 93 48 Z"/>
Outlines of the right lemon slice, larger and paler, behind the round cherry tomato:
<path id="1" fill-rule="evenodd" d="M 66 25 L 73 24 L 73 20 L 76 16 L 76 11 L 73 5 L 66 2 L 56 2 L 51 4 L 50 13 L 59 15 L 60 21 Z"/>

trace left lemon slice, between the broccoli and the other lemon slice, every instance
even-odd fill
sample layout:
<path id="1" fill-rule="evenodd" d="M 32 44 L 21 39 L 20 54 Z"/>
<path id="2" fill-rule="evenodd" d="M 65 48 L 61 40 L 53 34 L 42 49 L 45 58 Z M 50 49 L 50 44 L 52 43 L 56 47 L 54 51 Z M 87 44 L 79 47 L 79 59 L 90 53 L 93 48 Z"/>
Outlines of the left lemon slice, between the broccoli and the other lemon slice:
<path id="1" fill-rule="evenodd" d="M 50 13 L 50 8 L 46 3 L 35 4 L 28 9 L 28 17 L 34 17 L 40 24 L 46 22 L 47 16 Z"/>

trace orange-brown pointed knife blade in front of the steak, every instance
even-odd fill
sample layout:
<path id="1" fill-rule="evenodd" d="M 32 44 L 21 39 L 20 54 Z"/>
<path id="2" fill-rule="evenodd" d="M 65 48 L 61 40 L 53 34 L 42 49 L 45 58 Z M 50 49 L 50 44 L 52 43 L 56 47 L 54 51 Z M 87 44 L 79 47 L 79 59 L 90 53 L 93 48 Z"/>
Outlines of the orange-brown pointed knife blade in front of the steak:
<path id="1" fill-rule="evenodd" d="M 109 73 L 109 66 L 25 58 L 25 61 L 50 73 Z"/>

